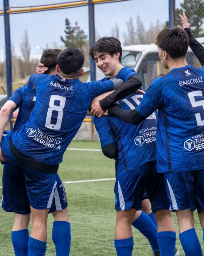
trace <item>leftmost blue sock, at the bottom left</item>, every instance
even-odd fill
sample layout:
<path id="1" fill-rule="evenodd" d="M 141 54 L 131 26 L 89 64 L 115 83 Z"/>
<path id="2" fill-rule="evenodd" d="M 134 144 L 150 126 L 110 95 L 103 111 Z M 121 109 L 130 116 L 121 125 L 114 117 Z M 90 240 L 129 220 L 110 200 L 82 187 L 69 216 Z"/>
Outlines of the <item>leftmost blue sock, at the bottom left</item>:
<path id="1" fill-rule="evenodd" d="M 13 249 L 16 256 L 28 256 L 28 229 L 12 231 L 11 240 L 13 243 Z"/>

